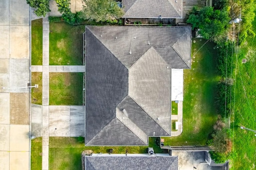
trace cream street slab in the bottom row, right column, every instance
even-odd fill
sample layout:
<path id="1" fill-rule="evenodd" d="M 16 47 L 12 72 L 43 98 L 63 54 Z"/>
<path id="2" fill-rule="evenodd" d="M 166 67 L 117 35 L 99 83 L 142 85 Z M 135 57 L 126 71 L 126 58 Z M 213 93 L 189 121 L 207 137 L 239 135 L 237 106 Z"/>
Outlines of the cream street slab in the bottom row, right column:
<path id="1" fill-rule="evenodd" d="M 10 170 L 29 170 L 29 152 L 10 152 Z"/>

